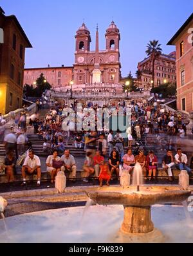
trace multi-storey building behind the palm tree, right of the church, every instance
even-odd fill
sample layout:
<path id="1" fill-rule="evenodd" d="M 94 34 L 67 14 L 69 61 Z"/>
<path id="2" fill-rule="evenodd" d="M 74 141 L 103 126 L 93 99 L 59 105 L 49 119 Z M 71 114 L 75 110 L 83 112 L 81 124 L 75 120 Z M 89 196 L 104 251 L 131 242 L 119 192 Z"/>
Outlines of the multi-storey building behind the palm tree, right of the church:
<path id="1" fill-rule="evenodd" d="M 142 87 L 148 88 L 153 84 L 151 56 L 138 63 L 138 70 L 141 72 Z M 169 55 L 160 54 L 154 63 L 154 87 L 163 83 L 176 83 L 176 52 Z"/>

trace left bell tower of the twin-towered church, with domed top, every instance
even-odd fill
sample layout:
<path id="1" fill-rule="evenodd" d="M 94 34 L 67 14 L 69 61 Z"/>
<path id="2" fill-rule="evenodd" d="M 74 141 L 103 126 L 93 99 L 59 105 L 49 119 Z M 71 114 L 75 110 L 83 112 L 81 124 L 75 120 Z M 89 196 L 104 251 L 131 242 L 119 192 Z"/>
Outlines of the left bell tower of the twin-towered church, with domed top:
<path id="1" fill-rule="evenodd" d="M 76 38 L 76 53 L 86 53 L 90 50 L 91 34 L 83 23 L 78 29 Z"/>

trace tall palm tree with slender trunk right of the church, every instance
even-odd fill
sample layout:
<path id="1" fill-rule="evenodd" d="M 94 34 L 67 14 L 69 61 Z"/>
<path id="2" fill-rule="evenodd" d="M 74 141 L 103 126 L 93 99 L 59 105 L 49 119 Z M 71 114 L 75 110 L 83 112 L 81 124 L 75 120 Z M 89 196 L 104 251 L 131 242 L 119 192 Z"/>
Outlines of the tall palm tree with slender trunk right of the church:
<path id="1" fill-rule="evenodd" d="M 147 45 L 146 54 L 147 56 L 151 56 L 152 59 L 152 80 L 154 85 L 154 64 L 156 61 L 156 58 L 161 54 L 161 44 L 158 40 L 149 41 Z"/>

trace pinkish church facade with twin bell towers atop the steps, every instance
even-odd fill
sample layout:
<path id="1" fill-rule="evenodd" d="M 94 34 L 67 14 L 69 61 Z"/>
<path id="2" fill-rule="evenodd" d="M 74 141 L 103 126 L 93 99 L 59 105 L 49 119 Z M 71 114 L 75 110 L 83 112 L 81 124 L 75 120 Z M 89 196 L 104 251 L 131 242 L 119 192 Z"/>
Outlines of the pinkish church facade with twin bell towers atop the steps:
<path id="1" fill-rule="evenodd" d="M 119 83 L 120 81 L 120 30 L 115 22 L 106 30 L 106 50 L 99 50 L 98 28 L 96 29 L 96 49 L 90 50 L 91 34 L 83 23 L 75 36 L 75 64 L 73 75 L 75 84 Z"/>

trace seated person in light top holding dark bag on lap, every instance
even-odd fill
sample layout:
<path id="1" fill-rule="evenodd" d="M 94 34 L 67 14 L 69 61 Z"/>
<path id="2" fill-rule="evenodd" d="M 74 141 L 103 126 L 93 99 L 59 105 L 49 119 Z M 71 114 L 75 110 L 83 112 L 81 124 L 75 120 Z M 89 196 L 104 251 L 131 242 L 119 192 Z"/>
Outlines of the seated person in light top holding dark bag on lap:
<path id="1" fill-rule="evenodd" d="M 60 157 L 58 156 L 58 151 L 54 150 L 53 155 L 48 156 L 46 160 L 46 166 L 47 166 L 47 172 L 51 175 L 51 184 L 53 184 L 55 176 L 59 173 L 61 167 L 57 166 L 57 168 L 54 165 L 55 162 L 61 162 Z"/>

